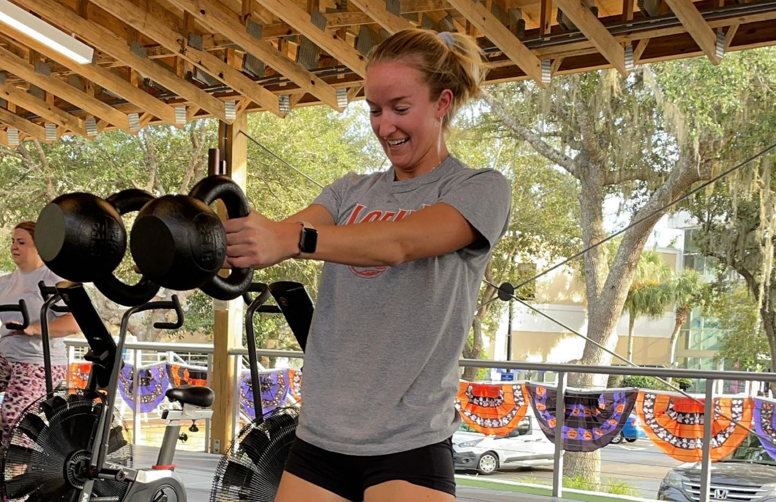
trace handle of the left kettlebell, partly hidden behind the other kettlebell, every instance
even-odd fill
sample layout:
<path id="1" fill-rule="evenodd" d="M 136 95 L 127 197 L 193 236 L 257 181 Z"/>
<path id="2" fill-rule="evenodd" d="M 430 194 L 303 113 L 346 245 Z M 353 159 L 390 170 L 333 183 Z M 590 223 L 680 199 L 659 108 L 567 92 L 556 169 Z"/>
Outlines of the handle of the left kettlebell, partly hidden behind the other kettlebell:
<path id="1" fill-rule="evenodd" d="M 106 201 L 116 208 L 120 215 L 139 211 L 154 196 L 145 190 L 128 189 L 114 193 Z M 95 287 L 113 302 L 123 306 L 137 306 L 150 301 L 159 291 L 159 286 L 146 279 L 145 275 L 137 284 L 126 284 L 116 277 L 115 272 L 106 275 L 94 282 Z"/>

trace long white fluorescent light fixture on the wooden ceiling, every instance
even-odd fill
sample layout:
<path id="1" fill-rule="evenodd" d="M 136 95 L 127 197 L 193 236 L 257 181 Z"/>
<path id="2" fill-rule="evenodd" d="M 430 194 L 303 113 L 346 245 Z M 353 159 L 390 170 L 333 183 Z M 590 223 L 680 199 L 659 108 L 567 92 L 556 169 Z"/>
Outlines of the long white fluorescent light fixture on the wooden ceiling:
<path id="1" fill-rule="evenodd" d="M 54 28 L 54 26 L 46 23 L 43 19 L 33 16 L 8 0 L 0 0 L 0 23 L 5 23 L 12 28 L 18 29 L 20 32 L 64 54 L 64 56 L 71 58 L 73 61 L 81 64 L 92 62 L 92 56 L 94 55 L 92 47 L 75 40 L 74 37 L 68 36 L 67 33 Z"/>

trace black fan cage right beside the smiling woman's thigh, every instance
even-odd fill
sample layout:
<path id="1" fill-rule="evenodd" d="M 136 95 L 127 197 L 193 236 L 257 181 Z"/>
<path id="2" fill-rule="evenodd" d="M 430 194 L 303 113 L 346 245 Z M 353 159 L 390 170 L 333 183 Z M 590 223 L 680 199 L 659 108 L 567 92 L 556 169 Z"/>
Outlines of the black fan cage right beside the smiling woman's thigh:
<path id="1" fill-rule="evenodd" d="M 210 502 L 272 502 L 299 424 L 299 407 L 279 407 L 246 425 L 221 457 Z"/>

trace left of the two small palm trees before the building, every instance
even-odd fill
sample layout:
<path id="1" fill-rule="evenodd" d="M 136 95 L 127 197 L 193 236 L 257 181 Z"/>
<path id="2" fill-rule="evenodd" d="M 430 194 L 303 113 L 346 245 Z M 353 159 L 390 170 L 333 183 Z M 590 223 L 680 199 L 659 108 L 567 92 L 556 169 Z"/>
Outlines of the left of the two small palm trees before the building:
<path id="1" fill-rule="evenodd" d="M 662 317 L 672 301 L 667 284 L 674 277 L 674 271 L 660 258 L 656 251 L 644 251 L 636 265 L 623 311 L 629 313 L 628 359 L 633 360 L 633 326 L 640 316 Z"/>

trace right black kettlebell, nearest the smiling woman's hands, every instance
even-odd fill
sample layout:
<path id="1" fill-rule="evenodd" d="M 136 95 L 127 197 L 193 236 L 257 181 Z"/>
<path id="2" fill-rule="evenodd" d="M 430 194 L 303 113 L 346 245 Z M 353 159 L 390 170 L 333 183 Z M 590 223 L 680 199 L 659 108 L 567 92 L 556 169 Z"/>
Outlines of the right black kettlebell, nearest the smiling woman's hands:
<path id="1" fill-rule="evenodd" d="M 148 279 L 168 289 L 200 288 L 217 299 L 234 299 L 251 286 L 253 268 L 217 275 L 227 256 L 227 234 L 210 209 L 220 199 L 230 218 L 248 216 L 250 206 L 229 177 L 211 175 L 188 196 L 162 196 L 147 203 L 130 232 L 130 251 Z"/>

